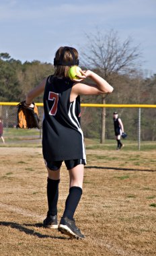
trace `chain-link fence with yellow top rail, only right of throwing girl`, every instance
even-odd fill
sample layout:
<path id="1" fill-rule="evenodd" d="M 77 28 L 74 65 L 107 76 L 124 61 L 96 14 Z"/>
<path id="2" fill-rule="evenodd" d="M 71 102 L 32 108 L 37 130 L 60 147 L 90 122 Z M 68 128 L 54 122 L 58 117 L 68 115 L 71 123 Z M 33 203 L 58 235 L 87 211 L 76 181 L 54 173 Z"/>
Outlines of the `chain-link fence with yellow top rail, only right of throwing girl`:
<path id="1" fill-rule="evenodd" d="M 84 106 L 81 108 L 81 125 L 85 137 L 100 139 L 102 133 L 102 107 L 100 107 L 100 104 L 94 105 L 99 105 L 99 107 Z M 120 119 L 122 119 L 124 131 L 128 133 L 129 140 L 156 141 L 156 105 L 106 104 L 106 139 L 114 139 L 114 111 L 117 111 Z"/>

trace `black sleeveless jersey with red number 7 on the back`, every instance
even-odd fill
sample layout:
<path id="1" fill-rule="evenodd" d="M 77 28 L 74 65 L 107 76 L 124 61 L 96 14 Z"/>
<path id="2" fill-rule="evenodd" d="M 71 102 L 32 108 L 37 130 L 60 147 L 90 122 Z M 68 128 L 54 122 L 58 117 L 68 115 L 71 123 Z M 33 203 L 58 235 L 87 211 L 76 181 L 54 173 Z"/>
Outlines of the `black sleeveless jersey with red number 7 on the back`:
<path id="1" fill-rule="evenodd" d="M 80 97 L 70 102 L 73 82 L 48 77 L 44 90 L 42 150 L 45 160 L 85 159 Z"/>

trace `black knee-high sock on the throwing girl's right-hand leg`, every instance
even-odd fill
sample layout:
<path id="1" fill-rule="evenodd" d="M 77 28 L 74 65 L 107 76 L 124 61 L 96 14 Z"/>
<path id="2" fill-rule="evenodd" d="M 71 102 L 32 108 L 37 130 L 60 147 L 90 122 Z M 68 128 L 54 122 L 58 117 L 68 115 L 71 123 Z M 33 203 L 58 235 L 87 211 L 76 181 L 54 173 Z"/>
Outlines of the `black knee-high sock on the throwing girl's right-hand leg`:
<path id="1" fill-rule="evenodd" d="M 67 217 L 71 220 L 73 219 L 75 210 L 77 208 L 79 200 L 81 199 L 81 195 L 82 195 L 81 187 L 71 187 L 69 189 L 69 195 L 65 202 L 65 212 L 63 214 L 64 218 Z"/>

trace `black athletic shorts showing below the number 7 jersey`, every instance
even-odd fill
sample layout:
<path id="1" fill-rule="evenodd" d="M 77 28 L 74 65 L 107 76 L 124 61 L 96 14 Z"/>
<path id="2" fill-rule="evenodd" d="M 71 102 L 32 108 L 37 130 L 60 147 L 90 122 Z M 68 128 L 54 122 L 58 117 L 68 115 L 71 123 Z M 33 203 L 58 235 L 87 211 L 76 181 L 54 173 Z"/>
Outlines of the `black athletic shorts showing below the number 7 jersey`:
<path id="1" fill-rule="evenodd" d="M 46 164 L 46 166 L 50 169 L 50 170 L 58 170 L 59 168 L 61 168 L 61 165 L 63 163 L 63 161 L 46 161 L 44 159 L 44 162 Z M 86 160 L 85 159 L 73 159 L 73 160 L 65 160 L 65 165 L 67 167 L 67 170 L 71 170 L 72 168 L 74 168 L 75 166 L 79 165 L 79 164 L 86 164 Z"/>

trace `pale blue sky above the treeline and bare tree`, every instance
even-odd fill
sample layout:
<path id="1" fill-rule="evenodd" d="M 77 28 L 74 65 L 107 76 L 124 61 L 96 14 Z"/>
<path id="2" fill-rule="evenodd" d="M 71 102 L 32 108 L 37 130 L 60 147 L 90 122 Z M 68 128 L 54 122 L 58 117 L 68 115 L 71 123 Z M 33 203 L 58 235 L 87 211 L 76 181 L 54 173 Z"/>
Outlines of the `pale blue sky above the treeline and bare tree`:
<path id="1" fill-rule="evenodd" d="M 0 53 L 22 62 L 53 63 L 59 46 L 79 51 L 97 28 L 131 36 L 143 69 L 156 73 L 156 0 L 0 0 Z"/>

